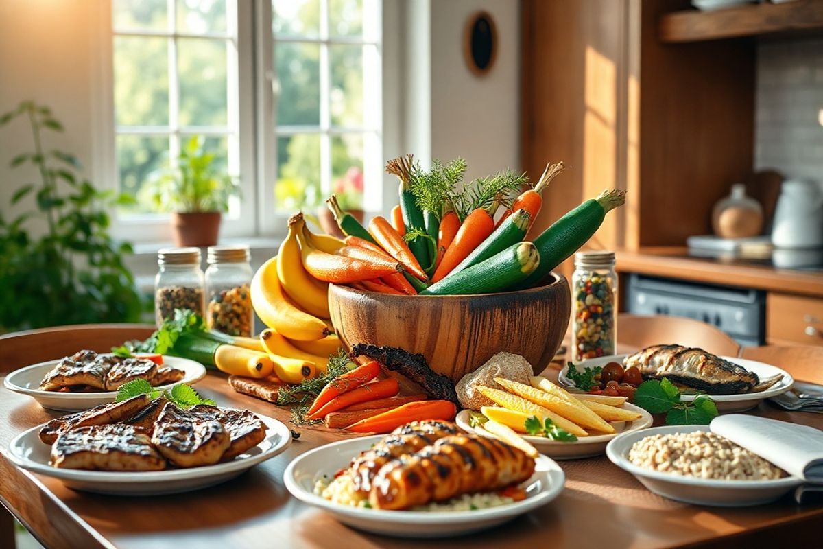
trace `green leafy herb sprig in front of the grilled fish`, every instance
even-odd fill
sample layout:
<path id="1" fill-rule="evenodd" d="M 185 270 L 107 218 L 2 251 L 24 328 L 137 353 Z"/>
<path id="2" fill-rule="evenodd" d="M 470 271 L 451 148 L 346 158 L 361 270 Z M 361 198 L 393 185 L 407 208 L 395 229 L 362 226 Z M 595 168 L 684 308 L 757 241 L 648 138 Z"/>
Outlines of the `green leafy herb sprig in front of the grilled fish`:
<path id="1" fill-rule="evenodd" d="M 681 399 L 680 389 L 667 378 L 644 381 L 635 391 L 635 404 L 651 414 L 666 414 L 667 425 L 709 425 L 718 407 L 705 394 L 692 402 Z"/>

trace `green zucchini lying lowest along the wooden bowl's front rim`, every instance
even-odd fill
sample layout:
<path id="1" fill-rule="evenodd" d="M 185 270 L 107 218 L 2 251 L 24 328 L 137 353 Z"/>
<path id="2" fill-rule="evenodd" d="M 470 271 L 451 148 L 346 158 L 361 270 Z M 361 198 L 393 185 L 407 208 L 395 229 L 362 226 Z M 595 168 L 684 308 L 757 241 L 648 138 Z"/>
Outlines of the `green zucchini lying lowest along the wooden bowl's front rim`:
<path id="1" fill-rule="evenodd" d="M 540 254 L 531 242 L 518 242 L 456 275 L 445 277 L 421 295 L 491 294 L 506 291 L 537 268 Z"/>

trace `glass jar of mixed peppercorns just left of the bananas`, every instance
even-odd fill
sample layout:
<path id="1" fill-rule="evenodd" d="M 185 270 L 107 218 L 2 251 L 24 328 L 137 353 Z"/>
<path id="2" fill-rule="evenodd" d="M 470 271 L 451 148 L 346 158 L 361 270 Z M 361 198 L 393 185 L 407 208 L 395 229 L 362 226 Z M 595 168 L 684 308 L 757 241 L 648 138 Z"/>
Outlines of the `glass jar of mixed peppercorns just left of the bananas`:
<path id="1" fill-rule="evenodd" d="M 249 295 L 253 277 L 249 246 L 209 246 L 207 261 L 208 328 L 230 336 L 251 336 L 254 311 Z"/>

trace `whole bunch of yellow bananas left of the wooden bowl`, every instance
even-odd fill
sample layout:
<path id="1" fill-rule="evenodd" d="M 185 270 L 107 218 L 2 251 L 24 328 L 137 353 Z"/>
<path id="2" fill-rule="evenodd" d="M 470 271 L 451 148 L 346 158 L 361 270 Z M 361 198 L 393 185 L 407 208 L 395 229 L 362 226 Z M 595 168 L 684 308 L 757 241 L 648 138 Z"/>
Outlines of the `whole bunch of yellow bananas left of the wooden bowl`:
<path id="1" fill-rule="evenodd" d="M 252 306 L 268 326 L 260 342 L 275 362 L 277 377 L 290 384 L 325 372 L 328 356 L 342 347 L 328 319 L 328 284 L 305 270 L 298 235 L 308 235 L 301 238 L 304 244 L 328 254 L 343 246 L 333 236 L 309 233 L 301 216 L 289 224 L 277 256 L 263 263 L 252 279 Z"/>

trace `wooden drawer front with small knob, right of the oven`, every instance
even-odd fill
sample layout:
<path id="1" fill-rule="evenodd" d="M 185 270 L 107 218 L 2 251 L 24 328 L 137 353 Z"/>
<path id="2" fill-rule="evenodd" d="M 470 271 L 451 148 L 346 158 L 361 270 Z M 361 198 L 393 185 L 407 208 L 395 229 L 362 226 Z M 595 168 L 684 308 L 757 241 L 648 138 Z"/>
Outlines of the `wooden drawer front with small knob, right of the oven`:
<path id="1" fill-rule="evenodd" d="M 823 346 L 823 299 L 770 292 L 766 295 L 766 339 L 773 344 Z"/>

